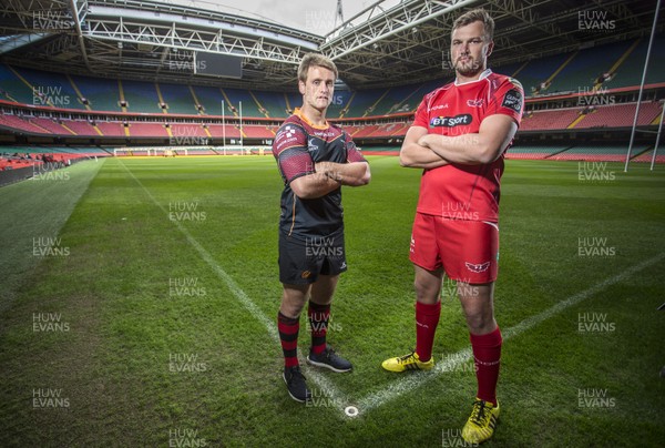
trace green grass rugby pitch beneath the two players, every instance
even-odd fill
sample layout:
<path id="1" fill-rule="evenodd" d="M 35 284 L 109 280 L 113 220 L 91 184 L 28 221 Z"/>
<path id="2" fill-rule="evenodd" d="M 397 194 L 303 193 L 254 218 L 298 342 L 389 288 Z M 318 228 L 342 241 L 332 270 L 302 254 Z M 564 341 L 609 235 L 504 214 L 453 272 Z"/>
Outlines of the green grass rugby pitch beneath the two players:
<path id="1" fill-rule="evenodd" d="M 344 191 L 329 330 L 355 369 L 304 367 L 311 406 L 280 378 L 273 157 L 110 159 L 0 189 L 0 445 L 462 446 L 475 379 L 454 285 L 439 368 L 380 368 L 415 346 L 420 172 L 369 160 L 370 185 Z M 509 161 L 502 183 L 485 446 L 662 446 L 663 167 Z"/>

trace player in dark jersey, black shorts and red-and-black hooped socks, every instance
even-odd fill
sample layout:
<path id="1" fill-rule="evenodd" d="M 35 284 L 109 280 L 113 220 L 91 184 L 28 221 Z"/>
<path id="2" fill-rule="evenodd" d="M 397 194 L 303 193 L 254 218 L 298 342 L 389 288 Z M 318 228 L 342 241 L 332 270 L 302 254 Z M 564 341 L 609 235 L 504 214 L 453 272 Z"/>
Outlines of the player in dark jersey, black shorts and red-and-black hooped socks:
<path id="1" fill-rule="evenodd" d="M 284 180 L 279 217 L 279 281 L 284 286 L 277 328 L 284 352 L 284 381 L 291 398 L 311 397 L 300 371 L 297 346 L 305 304 L 311 327 L 307 363 L 349 371 L 351 363 L 326 343 L 330 303 L 347 269 L 341 186 L 361 186 L 371 177 L 369 164 L 350 135 L 326 120 L 332 101 L 335 63 L 309 53 L 298 68 L 303 106 L 277 131 L 273 154 Z"/>

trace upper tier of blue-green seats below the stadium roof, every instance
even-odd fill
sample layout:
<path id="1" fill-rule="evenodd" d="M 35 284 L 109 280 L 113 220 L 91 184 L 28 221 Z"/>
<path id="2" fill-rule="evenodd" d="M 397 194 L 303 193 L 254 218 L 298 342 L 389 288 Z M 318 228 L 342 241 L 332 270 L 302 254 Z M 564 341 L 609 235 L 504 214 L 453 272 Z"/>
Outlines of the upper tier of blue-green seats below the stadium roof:
<path id="1" fill-rule="evenodd" d="M 526 96 L 584 92 L 595 88 L 631 88 L 640 84 L 648 39 L 615 42 L 573 53 L 555 54 L 493 68 L 520 80 Z M 491 63 L 491 58 L 490 58 Z M 604 82 L 600 82 L 605 75 Z M 451 81 L 360 91 L 338 90 L 329 118 L 381 116 L 412 112 L 422 96 Z M 647 84 L 665 83 L 665 35 L 654 38 Z M 0 63 L 0 100 L 59 109 L 151 114 L 222 115 L 246 118 L 288 116 L 301 104 L 296 90 L 288 93 L 246 89 L 111 80 L 43 72 Z"/>

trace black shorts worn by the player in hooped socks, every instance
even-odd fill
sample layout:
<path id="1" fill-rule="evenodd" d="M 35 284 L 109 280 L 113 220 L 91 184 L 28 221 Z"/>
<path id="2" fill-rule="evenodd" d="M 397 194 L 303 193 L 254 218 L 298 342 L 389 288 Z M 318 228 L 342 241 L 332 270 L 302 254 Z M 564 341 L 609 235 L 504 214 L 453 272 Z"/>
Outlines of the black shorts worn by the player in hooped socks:
<path id="1" fill-rule="evenodd" d="M 308 285 L 321 275 L 338 275 L 347 269 L 344 233 L 313 236 L 305 241 L 279 232 L 279 282 Z"/>

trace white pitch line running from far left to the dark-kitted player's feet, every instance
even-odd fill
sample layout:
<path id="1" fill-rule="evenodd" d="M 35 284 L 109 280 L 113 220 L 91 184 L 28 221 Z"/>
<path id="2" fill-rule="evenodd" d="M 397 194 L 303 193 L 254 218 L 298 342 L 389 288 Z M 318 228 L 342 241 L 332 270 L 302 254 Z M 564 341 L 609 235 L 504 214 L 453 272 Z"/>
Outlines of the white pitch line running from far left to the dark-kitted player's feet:
<path id="1" fill-rule="evenodd" d="M 151 201 L 157 207 L 160 207 L 160 210 L 162 212 L 164 212 L 164 214 L 166 216 L 168 216 L 168 212 L 166 211 L 166 208 L 164 208 L 162 206 L 162 204 L 160 204 L 157 202 L 157 200 L 155 200 L 155 197 L 152 195 L 152 193 L 141 183 L 141 181 L 139 181 L 139 179 L 136 179 L 134 173 L 132 173 L 130 171 L 130 169 L 127 169 L 125 166 L 125 164 L 122 163 L 122 161 L 119 160 L 117 162 L 132 176 L 134 182 L 136 182 L 139 184 L 139 186 L 141 186 L 141 189 L 151 198 Z M 213 258 L 213 256 L 198 243 L 198 241 L 196 241 L 196 238 L 194 236 L 192 236 L 190 231 L 187 231 L 187 228 L 185 228 L 180 223 L 180 221 L 173 221 L 173 220 L 170 220 L 170 221 L 173 224 L 175 224 L 177 230 L 181 231 L 181 233 L 187 238 L 187 242 L 192 245 L 192 247 L 194 247 L 194 250 L 196 252 L 198 252 L 198 255 L 201 255 L 201 257 L 207 263 L 207 265 L 213 268 L 213 271 L 217 274 L 217 276 L 224 281 L 224 283 L 226 284 L 228 289 L 238 299 L 238 302 L 249 312 L 249 314 L 252 314 L 258 322 L 260 322 L 266 327 L 266 330 L 270 335 L 270 338 L 274 342 L 276 342 L 277 345 L 279 345 L 280 344 L 279 343 L 279 332 L 277 330 L 277 325 L 275 325 L 275 323 L 272 319 L 269 319 L 260 310 L 260 308 L 258 306 L 256 306 L 256 304 L 254 302 L 252 302 L 252 299 L 247 296 L 247 294 L 245 294 L 243 288 L 241 288 L 241 286 L 233 279 L 233 277 L 231 275 L 228 275 L 228 273 L 226 271 L 224 271 L 217 262 L 215 262 L 215 258 Z M 303 357 L 299 349 L 298 349 L 298 356 Z M 329 399 L 334 400 L 335 403 L 344 403 L 347 400 L 344 397 L 344 395 L 335 386 L 332 386 L 332 384 L 325 376 L 319 375 L 317 371 L 315 371 L 313 369 L 308 369 L 306 374 L 307 374 L 306 376 L 308 378 L 311 378 L 311 380 L 314 383 L 316 383 L 316 385 L 320 388 L 320 390 L 324 391 L 324 396 L 327 399 L 329 398 Z"/>

